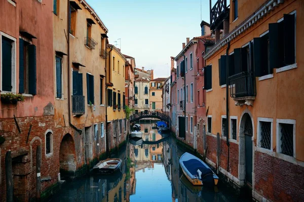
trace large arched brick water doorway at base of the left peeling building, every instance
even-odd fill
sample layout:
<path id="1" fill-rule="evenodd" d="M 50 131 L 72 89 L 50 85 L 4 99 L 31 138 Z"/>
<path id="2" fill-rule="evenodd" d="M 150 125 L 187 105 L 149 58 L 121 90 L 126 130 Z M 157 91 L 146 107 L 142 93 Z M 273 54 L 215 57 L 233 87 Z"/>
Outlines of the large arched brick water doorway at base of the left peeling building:
<path id="1" fill-rule="evenodd" d="M 70 134 L 64 135 L 59 151 L 60 177 L 74 177 L 76 171 L 75 144 Z"/>

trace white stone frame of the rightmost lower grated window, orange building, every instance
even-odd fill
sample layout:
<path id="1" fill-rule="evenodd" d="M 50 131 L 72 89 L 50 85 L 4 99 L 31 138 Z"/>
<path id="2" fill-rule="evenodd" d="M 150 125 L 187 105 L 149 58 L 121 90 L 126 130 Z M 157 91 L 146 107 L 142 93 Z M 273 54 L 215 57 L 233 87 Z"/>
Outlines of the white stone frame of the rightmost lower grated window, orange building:
<path id="1" fill-rule="evenodd" d="M 281 138 L 279 137 L 279 132 L 280 132 L 280 129 L 279 129 L 279 126 L 280 126 L 280 123 L 287 123 L 287 124 L 293 124 L 293 157 L 290 157 L 288 155 L 284 155 L 281 153 L 281 148 L 280 148 L 280 145 L 281 145 Z M 295 146 L 296 146 L 296 143 L 295 143 L 295 127 L 296 127 L 296 121 L 294 119 L 277 119 L 277 124 L 276 124 L 276 131 L 277 131 L 277 134 L 276 134 L 276 151 L 278 153 L 278 157 L 285 160 L 285 161 L 289 161 L 289 162 L 293 162 L 294 159 L 296 158 L 296 154 L 295 154 Z"/>

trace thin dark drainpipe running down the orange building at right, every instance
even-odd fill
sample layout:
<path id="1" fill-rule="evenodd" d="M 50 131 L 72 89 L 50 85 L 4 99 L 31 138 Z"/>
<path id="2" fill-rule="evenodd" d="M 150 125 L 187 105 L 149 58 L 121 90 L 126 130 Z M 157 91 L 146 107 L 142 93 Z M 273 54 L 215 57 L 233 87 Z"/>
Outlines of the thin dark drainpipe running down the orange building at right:
<path id="1" fill-rule="evenodd" d="M 229 171 L 229 151 L 230 151 L 230 142 L 229 142 L 229 48 L 230 41 L 227 44 L 226 49 L 226 144 L 228 146 L 227 154 L 227 171 Z"/>

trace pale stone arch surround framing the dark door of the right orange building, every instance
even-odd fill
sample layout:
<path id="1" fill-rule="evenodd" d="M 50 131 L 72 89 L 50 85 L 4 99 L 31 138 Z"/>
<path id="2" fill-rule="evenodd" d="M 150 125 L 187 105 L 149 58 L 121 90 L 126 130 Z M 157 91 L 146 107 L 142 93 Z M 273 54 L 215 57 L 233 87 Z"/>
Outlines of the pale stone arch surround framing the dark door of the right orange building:
<path id="1" fill-rule="evenodd" d="M 251 123 L 251 128 L 250 128 Z M 246 126 L 249 125 L 249 128 Z M 254 127 L 254 120 L 251 112 L 246 108 L 240 118 L 239 123 L 239 180 L 240 180 L 240 186 L 244 186 L 246 184 L 246 146 L 247 148 L 252 149 L 252 187 L 254 187 L 254 134 L 255 134 L 255 127 Z M 250 131 L 251 130 L 251 131 Z M 248 132 L 249 131 L 249 132 Z M 250 144 L 248 144 L 248 138 L 250 135 L 248 133 L 252 134 Z M 247 144 L 245 143 L 245 135 L 247 135 Z M 250 156 L 249 156 L 250 157 Z M 251 167 L 251 166 L 250 166 Z M 247 181 L 251 181 L 250 179 L 247 179 Z"/>

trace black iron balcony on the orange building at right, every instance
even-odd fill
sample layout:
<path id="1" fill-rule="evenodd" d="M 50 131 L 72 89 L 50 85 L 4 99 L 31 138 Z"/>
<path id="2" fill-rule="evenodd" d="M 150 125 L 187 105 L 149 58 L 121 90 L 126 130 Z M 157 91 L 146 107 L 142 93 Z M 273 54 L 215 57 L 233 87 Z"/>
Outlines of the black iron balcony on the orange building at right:
<path id="1" fill-rule="evenodd" d="M 230 96 L 237 106 L 253 105 L 256 95 L 255 78 L 249 72 L 241 72 L 229 77 Z"/>

